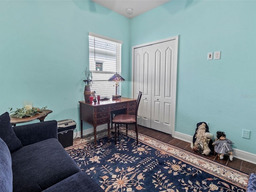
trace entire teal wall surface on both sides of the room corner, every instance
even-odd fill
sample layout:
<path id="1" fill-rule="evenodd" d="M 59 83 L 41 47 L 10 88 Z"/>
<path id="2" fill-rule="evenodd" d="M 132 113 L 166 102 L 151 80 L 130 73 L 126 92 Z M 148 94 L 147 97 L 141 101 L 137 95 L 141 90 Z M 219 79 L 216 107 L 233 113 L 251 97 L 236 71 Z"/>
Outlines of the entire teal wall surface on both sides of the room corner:
<path id="1" fill-rule="evenodd" d="M 132 46 L 179 35 L 176 132 L 196 123 L 256 154 L 256 1 L 172 0 L 132 19 L 91 1 L 0 1 L 0 114 L 34 99 L 46 120 L 74 119 L 84 100 L 88 32 L 123 41 L 122 96 L 131 96 Z M 207 53 L 221 51 L 220 60 Z M 84 124 L 84 129 L 89 128 Z M 251 130 L 250 140 L 242 129 Z"/>

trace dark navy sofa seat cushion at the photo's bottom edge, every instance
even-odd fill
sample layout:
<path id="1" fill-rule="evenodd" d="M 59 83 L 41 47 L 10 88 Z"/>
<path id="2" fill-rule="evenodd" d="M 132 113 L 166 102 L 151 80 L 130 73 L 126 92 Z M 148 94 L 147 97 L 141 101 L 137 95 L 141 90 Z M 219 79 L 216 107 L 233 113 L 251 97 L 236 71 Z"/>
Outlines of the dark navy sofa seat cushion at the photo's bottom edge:
<path id="1" fill-rule="evenodd" d="M 104 190 L 85 172 L 79 172 L 43 192 L 104 192 Z"/>

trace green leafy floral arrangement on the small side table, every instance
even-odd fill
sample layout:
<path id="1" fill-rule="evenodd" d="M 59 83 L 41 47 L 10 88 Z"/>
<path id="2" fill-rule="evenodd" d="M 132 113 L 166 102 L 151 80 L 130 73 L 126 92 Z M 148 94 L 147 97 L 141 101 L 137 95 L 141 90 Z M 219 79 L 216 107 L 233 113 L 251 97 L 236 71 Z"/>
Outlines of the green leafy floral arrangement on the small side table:
<path id="1" fill-rule="evenodd" d="M 18 118 L 22 117 L 32 117 L 35 114 L 42 113 L 44 109 L 46 109 L 47 106 L 43 108 L 38 108 L 38 107 L 32 107 L 32 108 L 26 108 L 26 106 L 22 107 L 21 109 L 16 108 L 17 110 L 13 110 L 12 108 L 9 108 L 11 116 L 17 115 Z"/>

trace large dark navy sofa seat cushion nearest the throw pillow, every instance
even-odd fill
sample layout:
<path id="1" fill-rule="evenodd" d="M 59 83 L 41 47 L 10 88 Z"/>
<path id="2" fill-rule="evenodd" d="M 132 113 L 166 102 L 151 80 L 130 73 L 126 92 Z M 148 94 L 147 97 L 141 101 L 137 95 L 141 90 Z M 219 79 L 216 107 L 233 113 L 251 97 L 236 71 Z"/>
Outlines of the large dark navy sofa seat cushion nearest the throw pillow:
<path id="1" fill-rule="evenodd" d="M 39 192 L 80 172 L 56 138 L 13 152 L 13 192 Z"/>

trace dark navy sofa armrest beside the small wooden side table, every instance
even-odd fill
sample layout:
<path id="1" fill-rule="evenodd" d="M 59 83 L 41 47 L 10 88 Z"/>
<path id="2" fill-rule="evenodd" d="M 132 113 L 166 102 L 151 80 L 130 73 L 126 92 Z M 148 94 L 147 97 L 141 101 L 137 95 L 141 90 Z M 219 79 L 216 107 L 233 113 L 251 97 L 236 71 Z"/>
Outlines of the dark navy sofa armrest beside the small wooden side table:
<path id="1" fill-rule="evenodd" d="M 57 121 L 46 121 L 13 127 L 13 130 L 23 146 L 42 140 L 58 139 Z"/>

